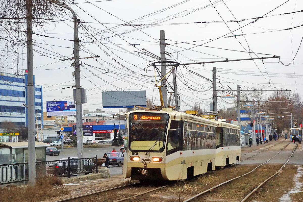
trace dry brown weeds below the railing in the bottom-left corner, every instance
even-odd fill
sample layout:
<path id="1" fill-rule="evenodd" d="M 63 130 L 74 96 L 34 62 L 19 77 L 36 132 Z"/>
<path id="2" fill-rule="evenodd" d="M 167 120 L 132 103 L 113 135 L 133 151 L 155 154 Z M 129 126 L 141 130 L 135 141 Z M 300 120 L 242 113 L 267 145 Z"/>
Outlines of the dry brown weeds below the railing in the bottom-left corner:
<path id="1" fill-rule="evenodd" d="M 63 182 L 60 178 L 49 177 L 37 180 L 35 186 L 26 185 L 22 187 L 0 188 L 1 202 L 34 202 L 49 200 L 52 197 L 68 194 L 67 190 L 59 187 L 62 185 Z"/>

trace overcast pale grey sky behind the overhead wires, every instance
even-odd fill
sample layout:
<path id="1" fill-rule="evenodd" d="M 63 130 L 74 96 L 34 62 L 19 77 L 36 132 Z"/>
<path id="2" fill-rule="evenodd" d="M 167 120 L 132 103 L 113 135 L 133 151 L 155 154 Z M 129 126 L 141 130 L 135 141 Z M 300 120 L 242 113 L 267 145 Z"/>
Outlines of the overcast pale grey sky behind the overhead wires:
<path id="1" fill-rule="evenodd" d="M 147 98 L 155 100 L 156 105 L 160 104 L 158 89 L 152 82 L 155 78 L 133 73 L 155 75 L 153 67 L 145 71 L 154 59 L 134 51 L 145 48 L 160 55 L 160 30 L 165 30 L 165 38 L 168 39 L 167 60 L 179 63 L 278 55 L 281 62 L 287 65 L 296 55 L 303 36 L 302 27 L 284 30 L 303 24 L 303 12 L 280 15 L 301 11 L 303 2 L 296 0 L 75 0 L 75 4 L 70 6 L 83 22 L 79 27 L 82 40 L 80 56 L 100 56 L 97 60 L 81 59 L 81 86 L 87 89 L 88 100 L 82 108 L 90 110 L 102 108 L 102 91 L 146 90 Z M 257 19 L 261 16 L 264 18 Z M 73 56 L 73 42 L 69 41 L 73 39 L 71 14 L 67 11 L 66 15 L 56 19 L 68 20 L 50 22 L 44 26 L 45 31 L 35 28 L 36 34 L 54 38 L 33 36 L 34 49 L 39 51 L 34 52 L 35 83 L 43 86 L 44 103 L 72 99 L 72 88 L 60 88 L 75 84 L 72 61 L 62 61 Z M 233 35 L 240 36 L 231 37 Z M 129 44 L 140 45 L 133 47 Z M 26 53 L 26 49 L 20 48 L 19 52 Z M 13 65 L 1 68 L 1 71 L 22 74 L 26 69 L 26 55 L 18 56 L 19 71 L 10 69 L 15 68 Z M 217 67 L 219 90 L 222 85 L 224 88 L 229 85 L 232 89 L 236 89 L 237 84 L 242 89 L 262 85 L 267 90 L 283 88 L 301 94 L 302 59 L 301 47 L 288 66 L 278 59 L 180 66 L 177 68 L 177 81 L 181 109 L 189 109 L 194 102 L 201 102 L 203 109 L 202 104 L 206 103 L 206 106 L 212 100 L 211 83 L 189 73 L 187 69 L 211 79 L 212 68 Z M 9 65 L 12 61 L 8 58 L 2 63 Z M 168 81 L 172 85 L 172 77 Z M 232 106 L 229 103 L 234 101 L 219 98 L 218 108 Z"/>

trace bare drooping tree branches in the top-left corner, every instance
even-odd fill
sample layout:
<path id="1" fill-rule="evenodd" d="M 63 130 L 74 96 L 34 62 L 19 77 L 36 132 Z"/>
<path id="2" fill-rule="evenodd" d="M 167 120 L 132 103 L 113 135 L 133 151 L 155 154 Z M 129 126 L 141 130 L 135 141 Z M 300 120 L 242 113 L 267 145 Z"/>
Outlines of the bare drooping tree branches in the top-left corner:
<path id="1" fill-rule="evenodd" d="M 12 57 L 13 64 L 18 64 L 18 49 L 26 47 L 26 19 L 32 18 L 33 28 L 45 31 L 43 25 L 56 22 L 57 15 L 65 14 L 65 9 L 55 4 L 55 0 L 0 0 L 1 17 L 1 58 L 4 63 Z M 61 0 L 66 2 L 66 0 Z M 31 13 L 27 13 L 27 8 Z M 22 57 L 21 57 L 22 58 Z M 18 72 L 18 70 L 16 70 Z"/>

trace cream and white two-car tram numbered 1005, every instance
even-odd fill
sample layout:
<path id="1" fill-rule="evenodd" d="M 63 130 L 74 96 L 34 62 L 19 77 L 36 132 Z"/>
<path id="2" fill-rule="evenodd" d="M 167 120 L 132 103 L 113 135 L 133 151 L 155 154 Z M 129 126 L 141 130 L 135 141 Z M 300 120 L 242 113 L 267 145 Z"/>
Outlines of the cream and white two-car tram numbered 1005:
<path id="1" fill-rule="evenodd" d="M 172 108 L 132 111 L 125 121 L 123 177 L 183 180 L 240 161 L 240 150 L 238 126 Z"/>

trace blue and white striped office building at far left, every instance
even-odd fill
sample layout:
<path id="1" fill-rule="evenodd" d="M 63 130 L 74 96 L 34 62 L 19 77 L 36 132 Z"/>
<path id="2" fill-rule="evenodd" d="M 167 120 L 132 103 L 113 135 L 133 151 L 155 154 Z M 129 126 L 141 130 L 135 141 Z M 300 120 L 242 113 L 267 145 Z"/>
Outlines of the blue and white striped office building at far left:
<path id="1" fill-rule="evenodd" d="M 0 122 L 12 121 L 16 127 L 27 126 L 28 112 L 23 105 L 27 105 L 26 85 L 27 74 L 15 75 L 0 72 Z M 43 121 L 42 111 L 42 86 L 35 85 L 35 120 L 38 116 L 38 128 L 41 127 Z"/>

